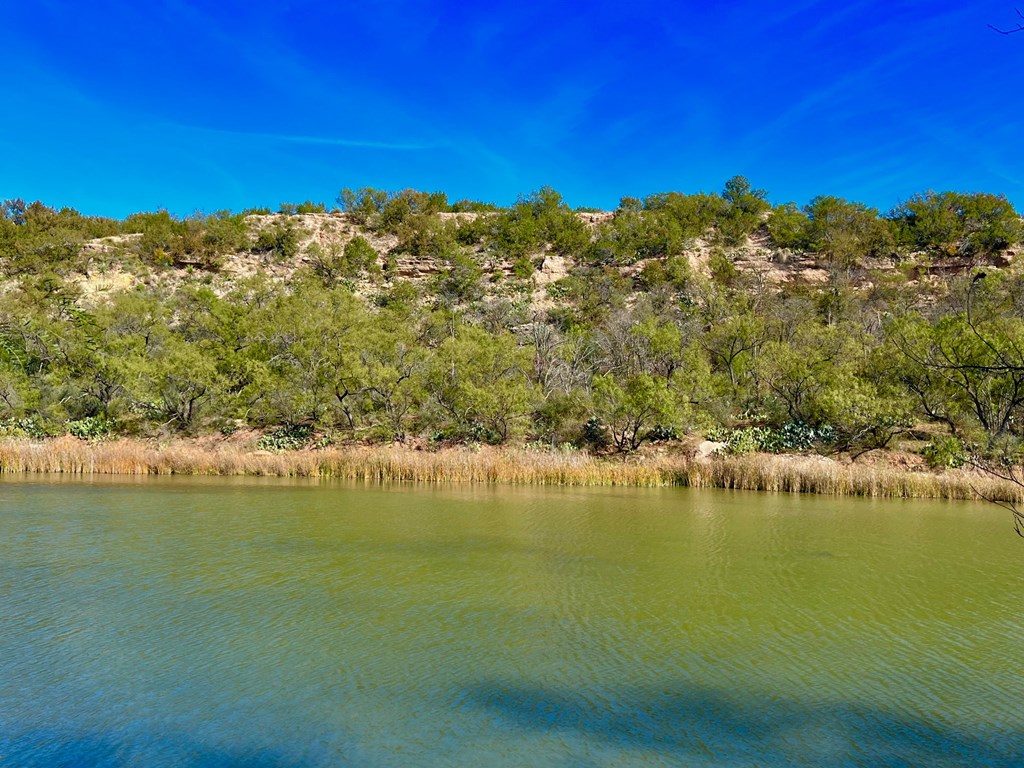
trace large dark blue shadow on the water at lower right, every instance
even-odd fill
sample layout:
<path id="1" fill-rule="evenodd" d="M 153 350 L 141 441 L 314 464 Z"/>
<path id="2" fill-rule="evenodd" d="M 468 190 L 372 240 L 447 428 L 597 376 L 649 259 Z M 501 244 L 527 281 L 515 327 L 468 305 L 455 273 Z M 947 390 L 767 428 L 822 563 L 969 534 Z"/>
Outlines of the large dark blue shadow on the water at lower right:
<path id="1" fill-rule="evenodd" d="M 574 733 L 696 763 L 769 766 L 1024 765 L 1024 733 L 927 722 L 847 702 L 749 698 L 692 685 L 569 691 L 481 684 L 462 703 L 516 728 Z"/>

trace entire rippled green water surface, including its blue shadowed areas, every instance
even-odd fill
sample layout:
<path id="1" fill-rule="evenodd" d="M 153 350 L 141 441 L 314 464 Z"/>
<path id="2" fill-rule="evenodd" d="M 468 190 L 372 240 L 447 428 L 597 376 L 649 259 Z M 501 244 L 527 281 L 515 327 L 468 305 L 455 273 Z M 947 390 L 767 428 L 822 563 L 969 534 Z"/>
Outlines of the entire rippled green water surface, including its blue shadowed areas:
<path id="1" fill-rule="evenodd" d="M 0 481 L 0 766 L 1024 765 L 985 505 Z"/>

